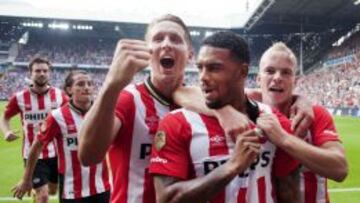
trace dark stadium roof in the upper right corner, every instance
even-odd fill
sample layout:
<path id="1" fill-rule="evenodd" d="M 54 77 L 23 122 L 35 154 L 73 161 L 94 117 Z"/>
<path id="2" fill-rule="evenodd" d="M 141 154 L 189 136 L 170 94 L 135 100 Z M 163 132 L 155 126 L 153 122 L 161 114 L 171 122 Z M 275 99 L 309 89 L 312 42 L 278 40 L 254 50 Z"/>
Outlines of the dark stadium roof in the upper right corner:
<path id="1" fill-rule="evenodd" d="M 251 33 L 321 32 L 360 23 L 360 0 L 264 0 L 245 25 Z"/>

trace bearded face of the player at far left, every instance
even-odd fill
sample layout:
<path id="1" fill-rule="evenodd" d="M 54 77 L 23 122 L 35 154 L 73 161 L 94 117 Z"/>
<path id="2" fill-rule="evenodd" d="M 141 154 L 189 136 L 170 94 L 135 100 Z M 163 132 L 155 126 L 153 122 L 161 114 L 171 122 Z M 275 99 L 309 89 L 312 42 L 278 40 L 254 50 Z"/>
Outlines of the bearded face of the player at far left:
<path id="1" fill-rule="evenodd" d="M 46 63 L 34 63 L 30 77 L 34 85 L 44 87 L 49 82 L 50 67 Z"/>

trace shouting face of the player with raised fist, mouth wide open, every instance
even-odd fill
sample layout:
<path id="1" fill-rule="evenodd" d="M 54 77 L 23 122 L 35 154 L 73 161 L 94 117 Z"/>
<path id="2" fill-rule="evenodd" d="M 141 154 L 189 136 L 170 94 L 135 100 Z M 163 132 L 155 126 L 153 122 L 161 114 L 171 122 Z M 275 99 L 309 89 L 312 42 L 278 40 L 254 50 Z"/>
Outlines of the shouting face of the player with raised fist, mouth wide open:
<path id="1" fill-rule="evenodd" d="M 147 35 L 152 49 L 151 67 L 157 77 L 179 79 L 191 58 L 183 28 L 170 21 L 155 24 Z"/>

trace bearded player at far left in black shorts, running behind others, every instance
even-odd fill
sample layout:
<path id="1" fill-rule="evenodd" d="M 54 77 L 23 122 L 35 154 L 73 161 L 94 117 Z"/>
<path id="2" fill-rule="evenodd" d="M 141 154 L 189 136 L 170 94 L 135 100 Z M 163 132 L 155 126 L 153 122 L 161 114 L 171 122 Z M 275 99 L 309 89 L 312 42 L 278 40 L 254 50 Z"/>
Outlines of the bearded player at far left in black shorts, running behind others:
<path id="1" fill-rule="evenodd" d="M 12 96 L 0 119 L 0 128 L 5 140 L 13 141 L 18 136 L 10 129 L 12 117 L 20 113 L 24 131 L 22 156 L 26 164 L 29 150 L 40 131 L 47 114 L 68 101 L 67 96 L 58 88 L 49 85 L 50 62 L 36 57 L 29 64 L 32 84 Z M 32 185 L 36 202 L 48 202 L 48 194 L 55 194 L 57 188 L 57 158 L 54 143 L 49 143 L 40 153 L 36 164 Z"/>

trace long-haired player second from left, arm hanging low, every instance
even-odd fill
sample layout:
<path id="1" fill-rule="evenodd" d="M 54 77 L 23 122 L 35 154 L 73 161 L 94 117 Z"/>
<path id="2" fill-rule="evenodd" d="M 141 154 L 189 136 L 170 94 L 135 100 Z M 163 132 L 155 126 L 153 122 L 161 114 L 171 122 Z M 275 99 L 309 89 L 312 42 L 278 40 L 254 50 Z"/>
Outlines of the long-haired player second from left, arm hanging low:
<path id="1" fill-rule="evenodd" d="M 93 100 L 93 81 L 85 71 L 74 71 L 65 79 L 70 102 L 52 111 L 41 127 L 41 134 L 31 147 L 24 176 L 15 186 L 14 196 L 22 198 L 31 188 L 31 174 L 43 146 L 55 140 L 59 155 L 61 203 L 108 203 L 110 184 L 103 161 L 84 167 L 78 160 L 78 139 L 83 117 Z"/>

